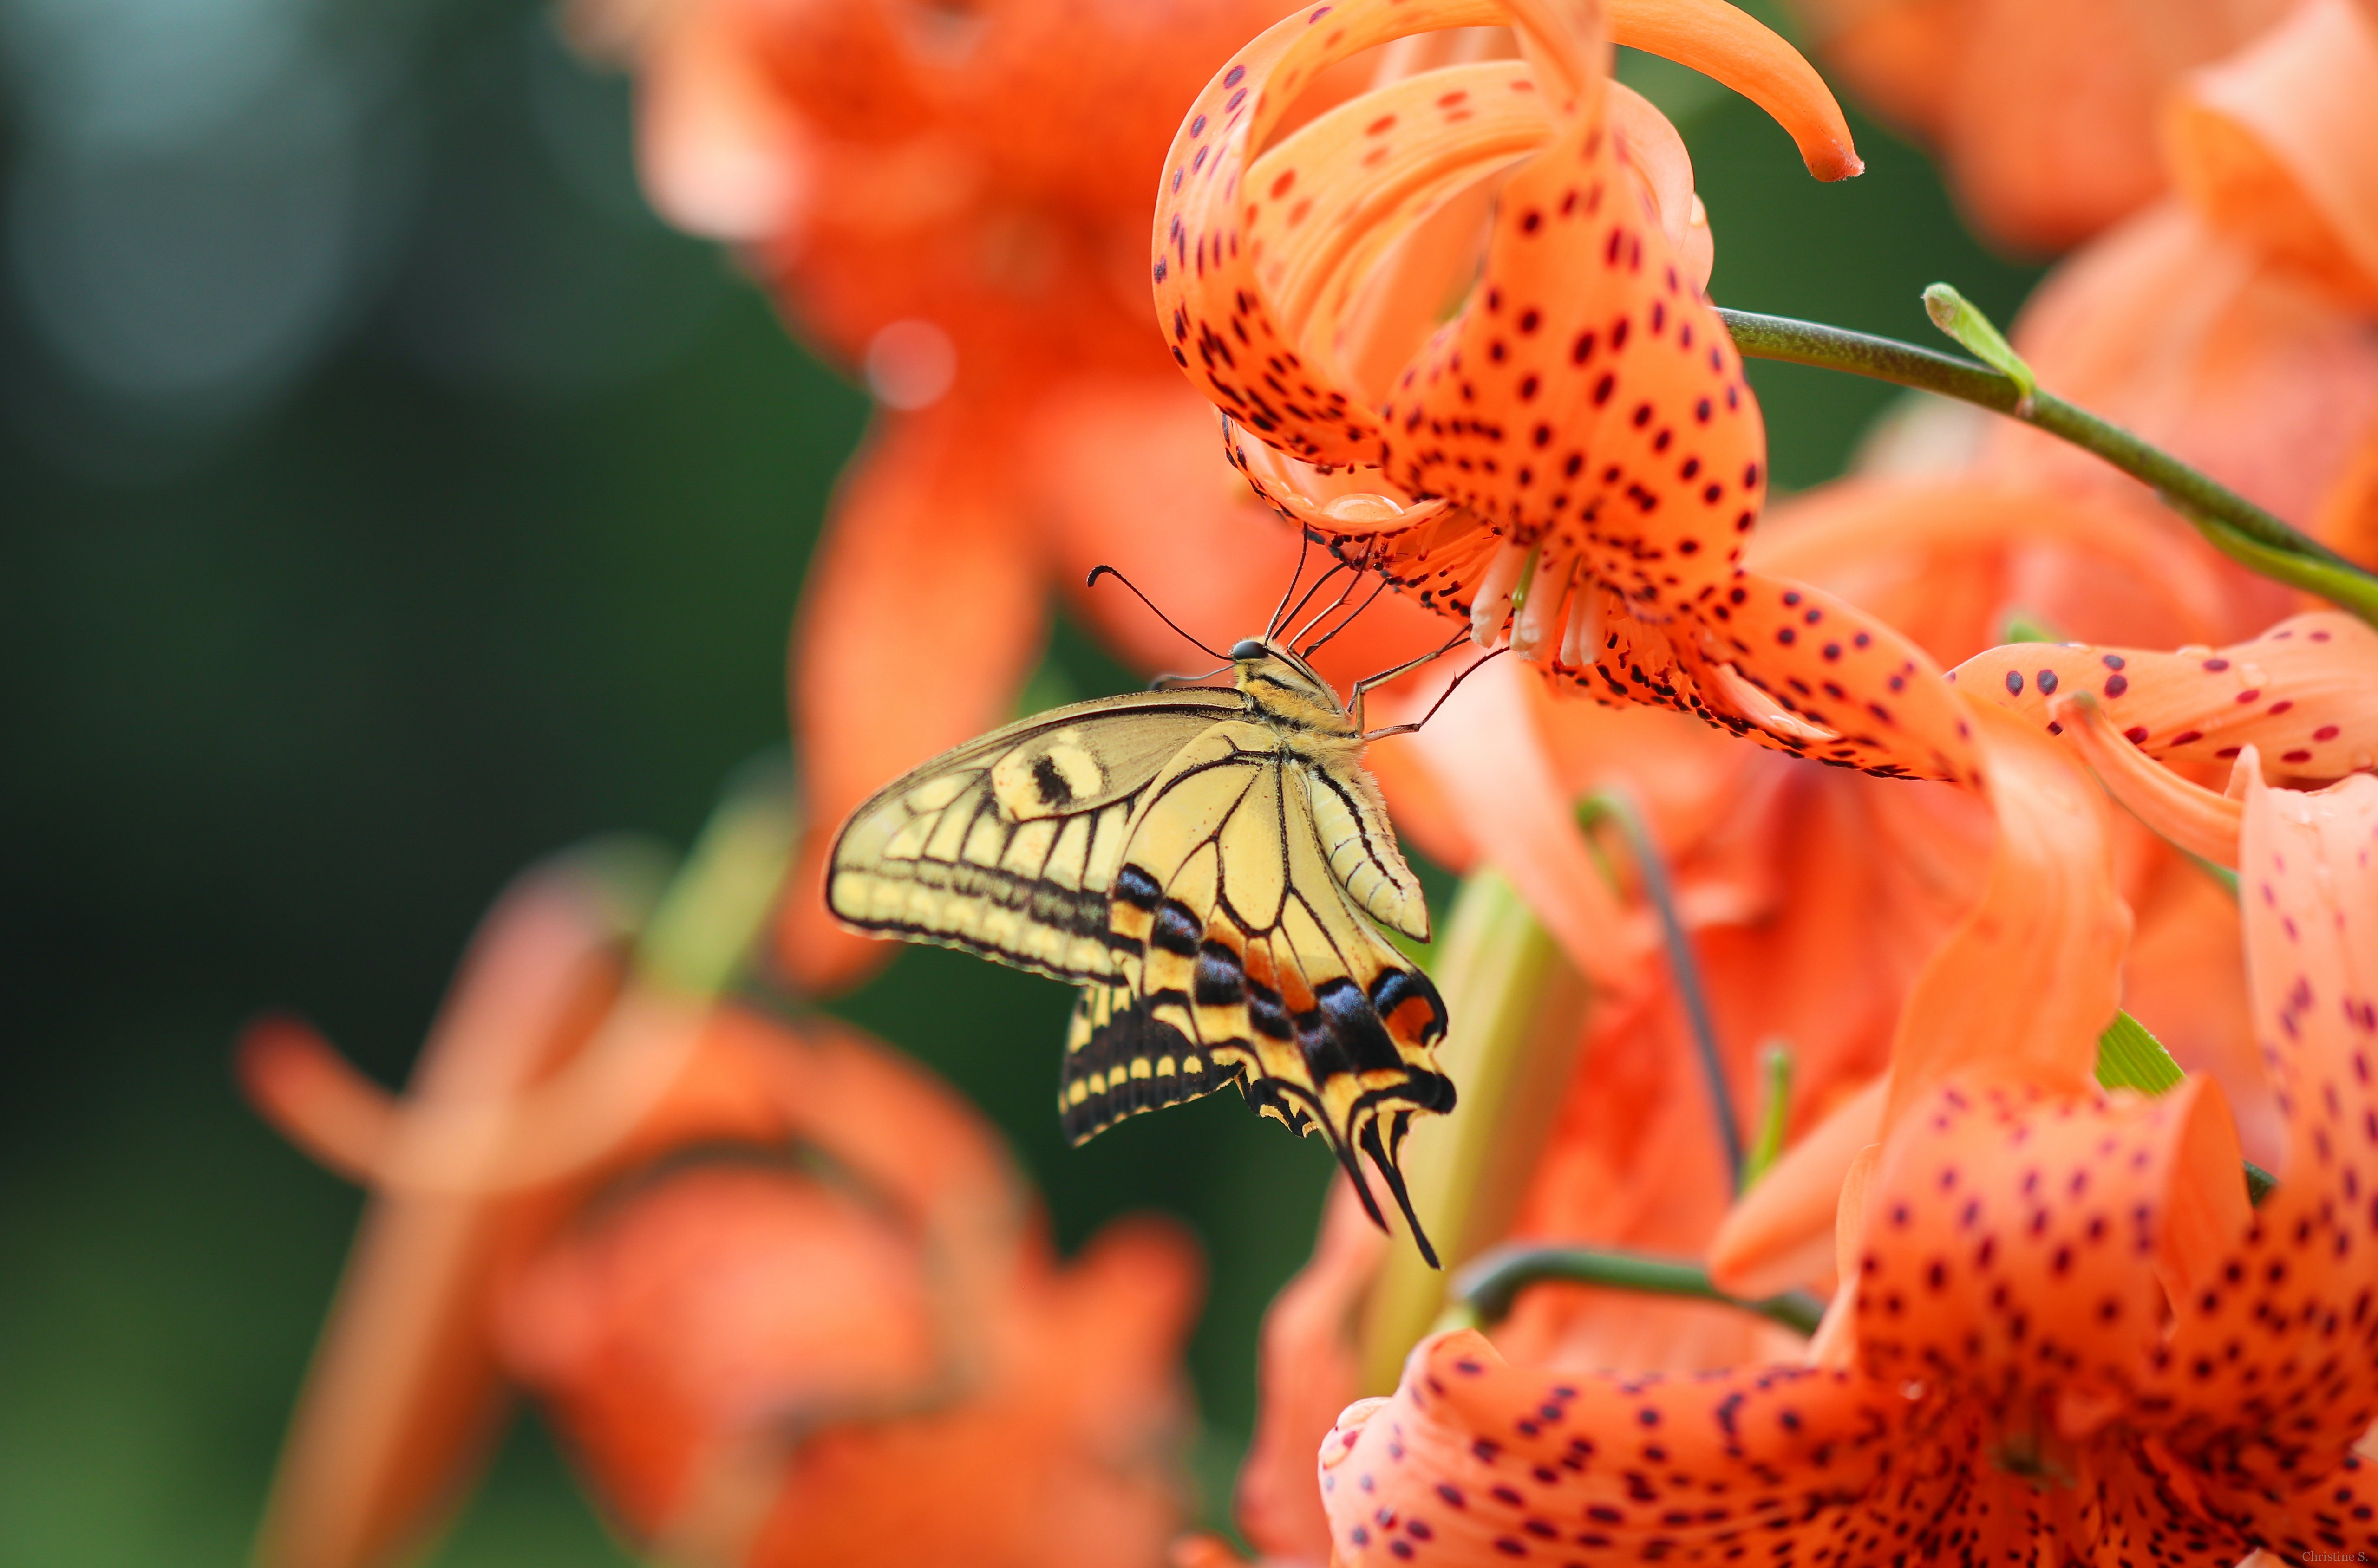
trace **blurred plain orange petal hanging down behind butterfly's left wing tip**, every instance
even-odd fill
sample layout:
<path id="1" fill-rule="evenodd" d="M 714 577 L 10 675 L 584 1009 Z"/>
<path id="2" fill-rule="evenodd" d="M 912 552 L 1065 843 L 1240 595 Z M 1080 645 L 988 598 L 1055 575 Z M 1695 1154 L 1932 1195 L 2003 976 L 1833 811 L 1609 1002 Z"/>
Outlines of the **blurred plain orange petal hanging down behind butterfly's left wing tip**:
<path id="1" fill-rule="evenodd" d="M 792 637 L 804 832 L 778 965 L 804 988 L 892 957 L 825 910 L 842 820 L 885 779 L 994 729 L 1039 649 L 1039 539 L 1001 463 L 1011 432 L 954 411 L 885 416 L 835 494 Z"/>

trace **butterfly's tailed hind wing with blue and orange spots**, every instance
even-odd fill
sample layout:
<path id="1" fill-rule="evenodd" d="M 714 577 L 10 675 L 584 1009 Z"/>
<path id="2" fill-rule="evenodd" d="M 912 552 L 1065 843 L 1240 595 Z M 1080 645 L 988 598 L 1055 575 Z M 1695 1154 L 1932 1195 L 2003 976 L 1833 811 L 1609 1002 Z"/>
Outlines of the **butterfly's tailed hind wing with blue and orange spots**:
<path id="1" fill-rule="evenodd" d="M 1222 722 L 1151 784 L 1113 879 L 1122 979 L 1075 1010 L 1058 1109 L 1082 1140 L 1237 1081 L 1320 1131 L 1377 1219 L 1367 1155 L 1434 1264 L 1398 1157 L 1415 1114 L 1453 1109 L 1446 1010 L 1332 874 L 1313 767 L 1267 727 Z"/>

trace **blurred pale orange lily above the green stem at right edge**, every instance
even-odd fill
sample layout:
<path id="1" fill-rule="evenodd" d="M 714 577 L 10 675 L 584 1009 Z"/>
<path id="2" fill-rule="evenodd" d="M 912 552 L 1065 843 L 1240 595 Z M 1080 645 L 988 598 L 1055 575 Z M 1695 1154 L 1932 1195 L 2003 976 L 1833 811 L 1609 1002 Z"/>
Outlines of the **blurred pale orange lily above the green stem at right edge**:
<path id="1" fill-rule="evenodd" d="M 2378 21 L 2307 0 L 2178 81 L 2162 140 L 2176 195 L 2050 276 L 2017 349 L 2040 385 L 2378 561 L 2354 520 L 2378 494 Z M 2145 501 L 2019 425 L 1990 432 L 1981 470 Z M 2261 622 L 2288 608 L 2261 603 Z"/>

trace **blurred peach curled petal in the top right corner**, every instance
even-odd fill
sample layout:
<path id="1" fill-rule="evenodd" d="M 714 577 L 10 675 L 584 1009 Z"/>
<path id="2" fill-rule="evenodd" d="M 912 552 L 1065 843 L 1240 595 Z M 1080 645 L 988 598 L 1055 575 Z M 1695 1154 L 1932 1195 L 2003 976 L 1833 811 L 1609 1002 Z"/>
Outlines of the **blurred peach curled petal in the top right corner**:
<path id="1" fill-rule="evenodd" d="M 2164 116 L 2181 195 L 2226 233 L 2378 304 L 2378 24 L 2309 0 L 2190 76 Z"/>

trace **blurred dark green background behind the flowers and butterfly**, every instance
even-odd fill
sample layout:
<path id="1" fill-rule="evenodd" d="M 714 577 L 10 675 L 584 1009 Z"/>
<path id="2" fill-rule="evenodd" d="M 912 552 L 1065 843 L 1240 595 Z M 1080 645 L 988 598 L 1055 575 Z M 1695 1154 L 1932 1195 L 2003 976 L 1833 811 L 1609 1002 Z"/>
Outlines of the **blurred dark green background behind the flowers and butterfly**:
<path id="1" fill-rule="evenodd" d="M 866 406 L 647 214 L 625 83 L 530 0 L 0 0 L 0 1563 L 238 1563 L 359 1200 L 235 1100 L 233 1031 L 295 1007 L 397 1081 L 516 870 L 685 843 L 782 739 Z M 1921 337 L 1933 278 L 2000 318 L 2028 285 L 1886 133 L 1824 188 L 1624 69 L 1726 304 Z M 1886 402 L 1753 378 L 1784 487 Z M 1130 679 L 1065 627 L 1051 660 Z M 1234 1095 L 1068 1152 L 1065 1007 L 908 950 L 839 1012 L 999 1121 L 1063 1245 L 1139 1207 L 1206 1238 L 1218 1516 L 1329 1162 Z M 523 1421 L 435 1561 L 623 1558 Z"/>

